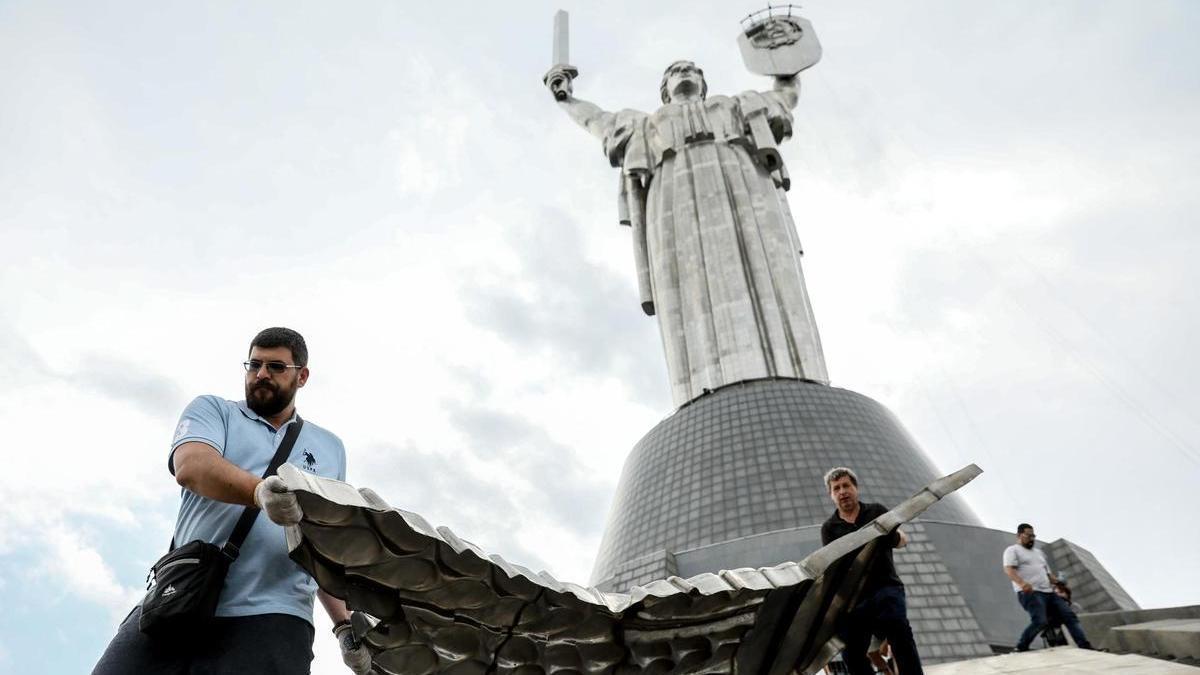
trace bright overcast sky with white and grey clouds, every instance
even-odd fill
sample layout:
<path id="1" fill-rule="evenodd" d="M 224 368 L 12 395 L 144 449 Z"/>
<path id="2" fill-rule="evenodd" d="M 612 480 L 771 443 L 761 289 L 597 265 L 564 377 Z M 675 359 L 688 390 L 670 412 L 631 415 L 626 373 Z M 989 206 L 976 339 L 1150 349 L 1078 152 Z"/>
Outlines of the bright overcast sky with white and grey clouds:
<path id="1" fill-rule="evenodd" d="M 240 398 L 266 325 L 350 483 L 587 581 L 671 402 L 617 177 L 540 82 L 560 6 L 605 108 L 679 58 L 769 86 L 756 2 L 0 0 L 0 671 L 91 668 L 170 537 L 179 412 Z M 1200 5 L 804 13 L 784 156 L 833 384 L 979 464 L 989 526 L 1200 603 Z"/>

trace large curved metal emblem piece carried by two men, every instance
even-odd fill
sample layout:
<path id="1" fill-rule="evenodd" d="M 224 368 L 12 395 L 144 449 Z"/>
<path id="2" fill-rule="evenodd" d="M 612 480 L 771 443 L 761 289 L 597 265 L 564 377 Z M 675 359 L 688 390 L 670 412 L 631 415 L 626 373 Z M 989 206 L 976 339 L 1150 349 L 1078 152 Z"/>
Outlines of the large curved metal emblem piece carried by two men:
<path id="1" fill-rule="evenodd" d="M 304 510 L 289 555 L 355 610 L 377 675 L 811 675 L 834 656 L 878 540 L 979 473 L 938 478 L 799 562 L 613 593 L 487 554 L 367 488 L 278 471 Z"/>

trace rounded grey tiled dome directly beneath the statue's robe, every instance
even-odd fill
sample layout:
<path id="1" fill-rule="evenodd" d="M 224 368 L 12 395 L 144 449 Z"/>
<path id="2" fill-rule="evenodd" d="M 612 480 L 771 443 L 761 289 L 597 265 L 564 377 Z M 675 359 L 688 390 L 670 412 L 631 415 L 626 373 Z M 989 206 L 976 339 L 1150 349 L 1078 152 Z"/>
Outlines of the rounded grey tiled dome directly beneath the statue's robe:
<path id="1" fill-rule="evenodd" d="M 853 468 L 863 498 L 888 506 L 944 473 L 895 416 L 847 389 L 756 380 L 695 399 L 625 460 L 592 583 L 655 551 L 817 525 L 833 512 L 822 476 L 834 466 Z M 956 495 L 924 518 L 982 525 Z"/>

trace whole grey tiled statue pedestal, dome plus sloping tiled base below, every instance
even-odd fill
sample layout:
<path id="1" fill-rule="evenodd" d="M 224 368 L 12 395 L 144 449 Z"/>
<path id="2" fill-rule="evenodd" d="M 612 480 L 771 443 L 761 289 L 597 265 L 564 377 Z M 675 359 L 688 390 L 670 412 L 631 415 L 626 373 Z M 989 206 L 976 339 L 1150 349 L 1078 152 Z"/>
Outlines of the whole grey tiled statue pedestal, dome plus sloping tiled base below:
<path id="1" fill-rule="evenodd" d="M 757 380 L 695 399 L 625 460 L 592 584 L 802 560 L 834 510 L 822 477 L 835 466 L 854 470 L 863 501 L 889 507 L 941 473 L 895 416 L 847 389 Z M 959 495 L 905 531 L 895 563 L 923 658 L 1010 649 L 1028 622 L 1000 566 L 1013 533 L 984 527 Z"/>

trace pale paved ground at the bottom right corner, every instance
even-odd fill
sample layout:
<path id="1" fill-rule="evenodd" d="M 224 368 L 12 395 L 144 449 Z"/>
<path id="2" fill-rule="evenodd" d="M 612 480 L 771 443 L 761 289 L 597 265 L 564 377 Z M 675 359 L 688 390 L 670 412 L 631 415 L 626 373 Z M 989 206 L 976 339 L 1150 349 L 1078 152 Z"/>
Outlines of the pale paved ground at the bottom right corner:
<path id="1" fill-rule="evenodd" d="M 942 663 L 925 668 L 929 675 L 994 675 L 1003 673 L 1117 673 L 1120 675 L 1200 675 L 1200 668 L 1132 653 L 1115 655 L 1075 647 L 1056 647 Z"/>

